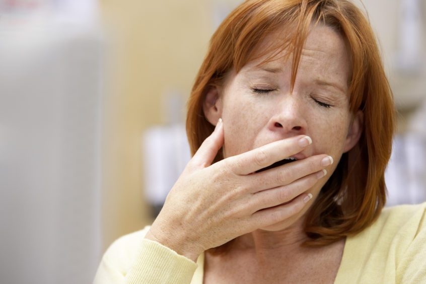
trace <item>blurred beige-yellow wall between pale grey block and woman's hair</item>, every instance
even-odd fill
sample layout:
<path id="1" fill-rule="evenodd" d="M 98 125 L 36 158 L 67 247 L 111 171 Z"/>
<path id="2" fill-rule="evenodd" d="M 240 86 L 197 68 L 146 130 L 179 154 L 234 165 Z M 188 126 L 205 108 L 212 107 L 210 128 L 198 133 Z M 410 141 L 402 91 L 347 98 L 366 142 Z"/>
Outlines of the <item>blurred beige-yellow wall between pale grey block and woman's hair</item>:
<path id="1" fill-rule="evenodd" d="M 207 0 L 103 0 L 100 7 L 109 42 L 103 108 L 105 249 L 118 236 L 152 222 L 143 196 L 141 133 L 164 122 L 166 92 L 176 90 L 186 100 L 214 20 Z"/>

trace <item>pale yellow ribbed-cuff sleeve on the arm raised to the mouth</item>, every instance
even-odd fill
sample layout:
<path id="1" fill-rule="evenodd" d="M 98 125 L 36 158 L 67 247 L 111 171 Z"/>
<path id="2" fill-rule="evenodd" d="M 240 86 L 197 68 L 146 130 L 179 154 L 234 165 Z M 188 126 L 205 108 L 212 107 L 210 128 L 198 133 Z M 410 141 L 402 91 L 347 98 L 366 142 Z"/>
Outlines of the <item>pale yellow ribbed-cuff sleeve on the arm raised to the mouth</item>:
<path id="1" fill-rule="evenodd" d="M 94 284 L 190 283 L 197 264 L 157 242 L 147 228 L 115 241 L 104 254 Z"/>

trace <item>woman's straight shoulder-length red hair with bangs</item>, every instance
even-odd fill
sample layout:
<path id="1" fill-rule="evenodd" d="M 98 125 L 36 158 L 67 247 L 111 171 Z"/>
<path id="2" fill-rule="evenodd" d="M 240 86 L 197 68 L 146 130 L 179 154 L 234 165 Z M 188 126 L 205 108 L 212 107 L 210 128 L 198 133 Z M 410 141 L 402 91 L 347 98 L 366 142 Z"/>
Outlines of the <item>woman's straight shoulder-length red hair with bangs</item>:
<path id="1" fill-rule="evenodd" d="M 345 38 L 351 56 L 350 111 L 364 113 L 359 143 L 343 154 L 306 218 L 305 232 L 310 237 L 306 244 L 327 245 L 362 231 L 379 216 L 386 202 L 384 173 L 395 125 L 392 92 L 376 38 L 354 4 L 348 0 L 248 0 L 241 4 L 211 38 L 188 101 L 186 130 L 193 155 L 214 130 L 203 113 L 205 93 L 221 85 L 231 69 L 238 73 L 257 56 L 291 50 L 293 88 L 312 24 L 329 26 Z M 281 30 L 281 41 L 256 53 L 265 37 Z M 215 161 L 222 159 L 219 153 Z"/>

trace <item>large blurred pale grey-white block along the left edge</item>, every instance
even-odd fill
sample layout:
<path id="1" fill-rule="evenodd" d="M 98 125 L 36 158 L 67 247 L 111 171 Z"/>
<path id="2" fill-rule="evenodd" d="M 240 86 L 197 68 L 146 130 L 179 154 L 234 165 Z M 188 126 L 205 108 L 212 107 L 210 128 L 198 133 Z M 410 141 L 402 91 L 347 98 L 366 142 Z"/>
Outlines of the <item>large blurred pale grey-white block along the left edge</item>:
<path id="1" fill-rule="evenodd" d="M 2 283 L 93 280 L 100 240 L 99 30 L 0 22 Z"/>

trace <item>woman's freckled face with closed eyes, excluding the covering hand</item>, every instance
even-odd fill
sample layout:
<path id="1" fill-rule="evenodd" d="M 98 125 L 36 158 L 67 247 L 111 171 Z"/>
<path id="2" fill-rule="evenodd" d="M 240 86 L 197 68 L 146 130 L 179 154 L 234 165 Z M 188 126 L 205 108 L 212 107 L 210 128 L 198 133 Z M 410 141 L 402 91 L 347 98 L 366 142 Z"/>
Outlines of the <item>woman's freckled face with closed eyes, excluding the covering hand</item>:
<path id="1" fill-rule="evenodd" d="M 265 42 L 268 45 L 273 37 Z M 291 57 L 259 65 L 267 55 L 249 62 L 238 74 L 231 72 L 223 88 L 217 90 L 214 104 L 205 106 L 210 122 L 224 121 L 224 157 L 231 157 L 291 136 L 309 135 L 313 144 L 302 152 L 305 157 L 327 154 L 334 164 L 327 177 L 308 192 L 314 198 L 334 171 L 342 153 L 359 139 L 361 114 L 349 112 L 348 79 L 350 59 L 342 36 L 326 26 L 313 28 L 307 37 L 296 83 L 290 94 Z M 215 100 L 215 91 L 207 101 Z M 310 204 L 313 204 L 311 202 Z M 281 230 L 298 220 L 262 228 Z"/>

